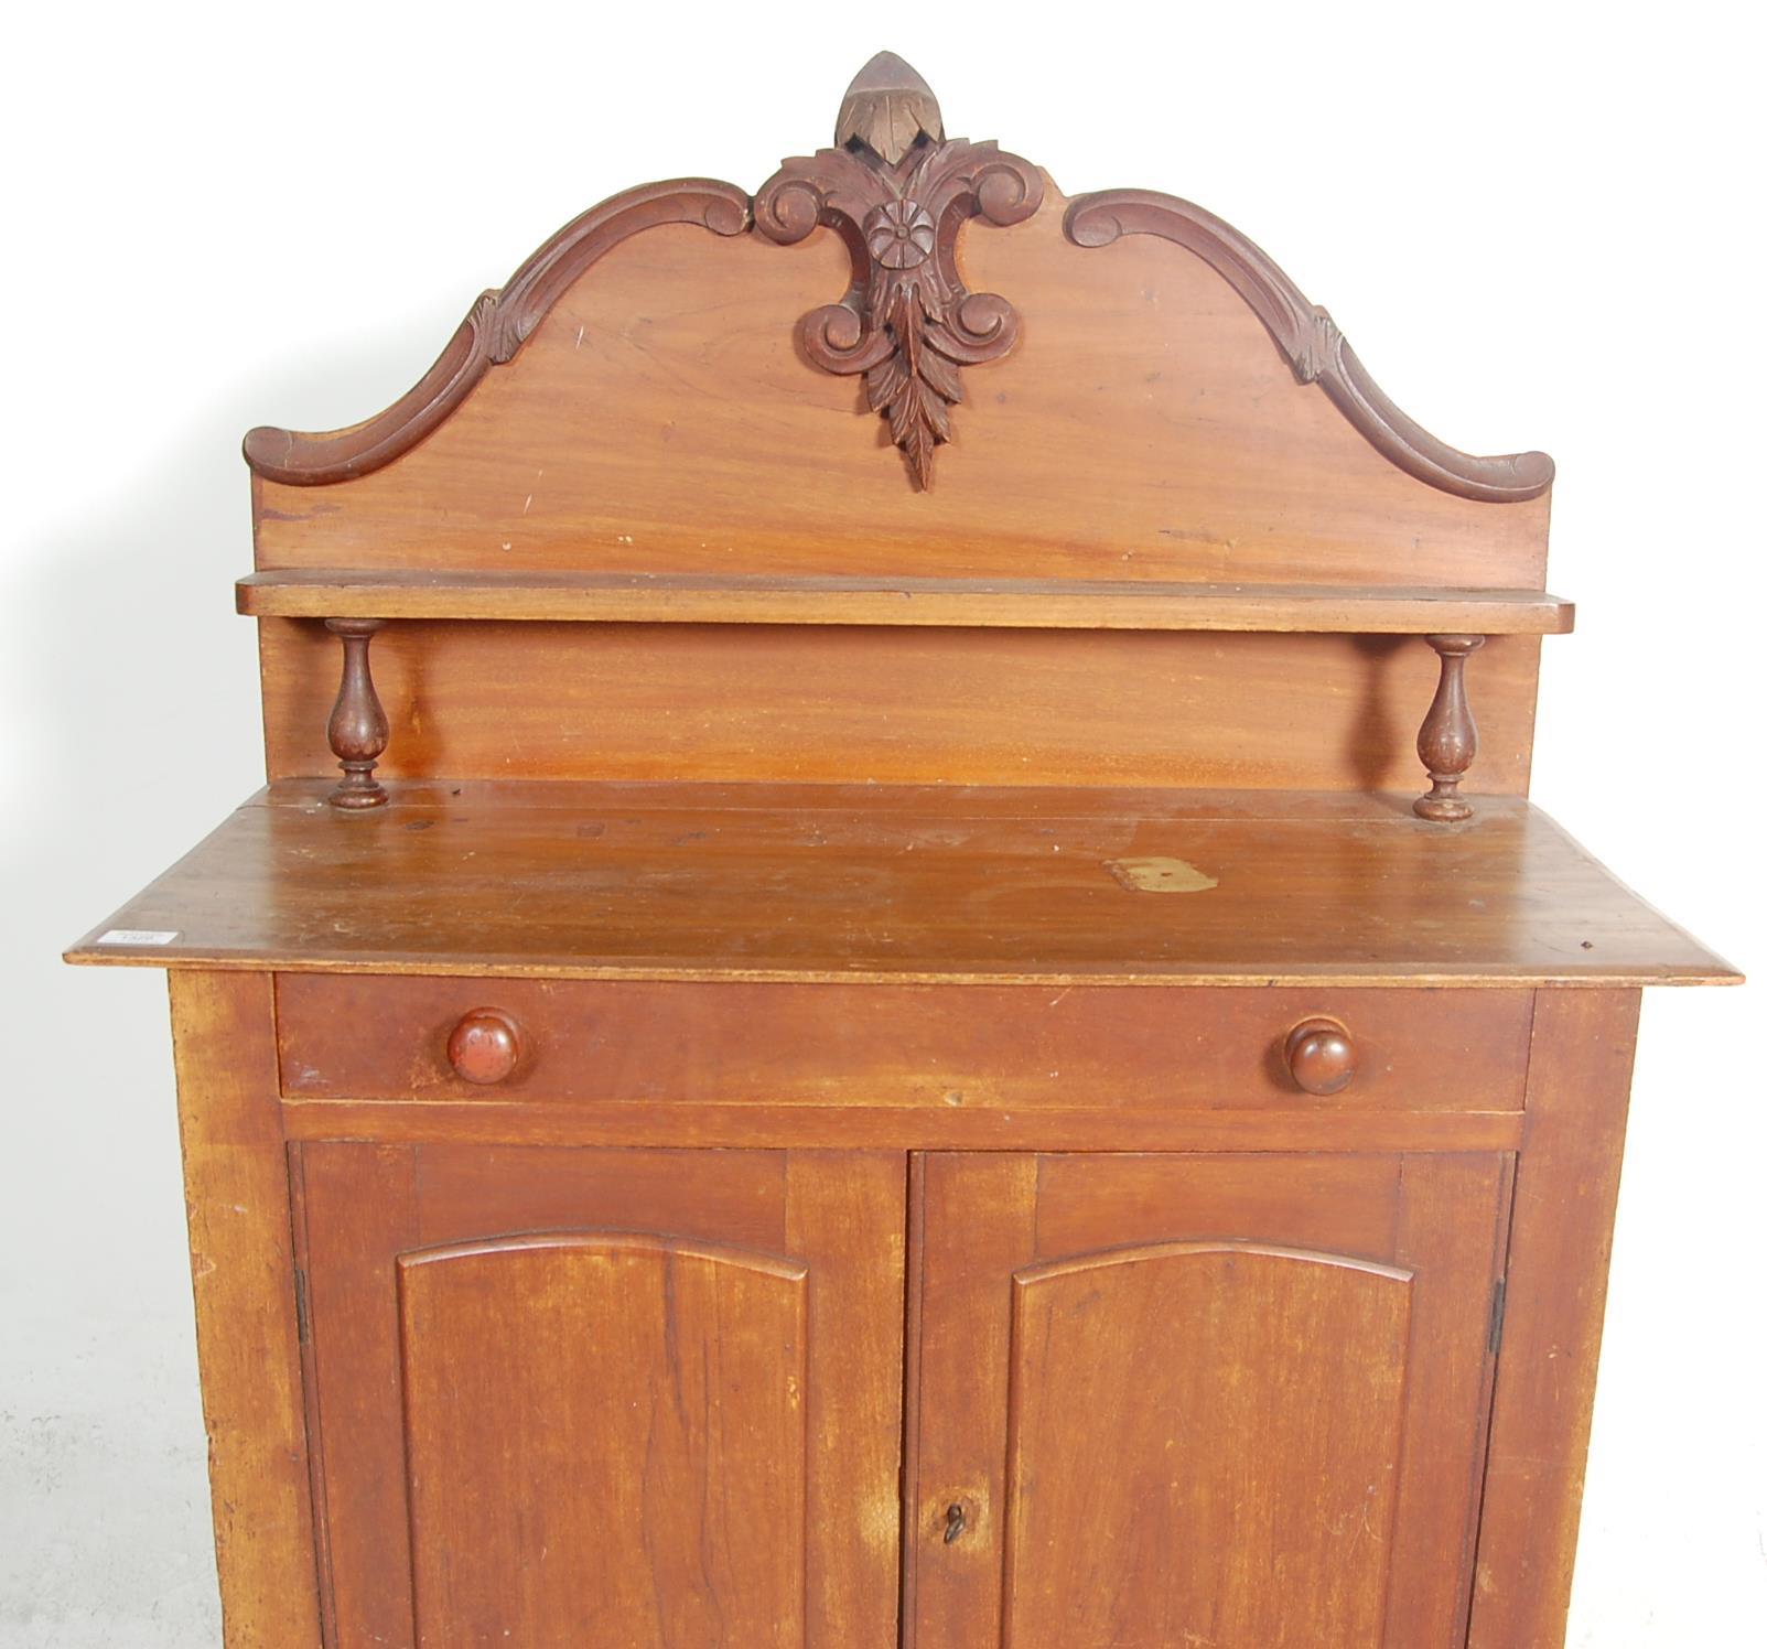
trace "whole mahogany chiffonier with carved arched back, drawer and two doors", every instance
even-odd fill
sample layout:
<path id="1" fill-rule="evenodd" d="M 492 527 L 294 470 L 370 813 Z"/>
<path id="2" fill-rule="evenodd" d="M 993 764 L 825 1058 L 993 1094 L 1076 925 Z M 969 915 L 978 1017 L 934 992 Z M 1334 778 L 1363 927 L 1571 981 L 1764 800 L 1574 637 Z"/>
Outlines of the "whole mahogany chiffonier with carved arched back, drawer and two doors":
<path id="1" fill-rule="evenodd" d="M 1735 974 L 1527 799 L 1544 454 L 884 55 L 246 458 L 269 785 L 69 953 L 170 969 L 231 1649 L 1562 1642 Z"/>

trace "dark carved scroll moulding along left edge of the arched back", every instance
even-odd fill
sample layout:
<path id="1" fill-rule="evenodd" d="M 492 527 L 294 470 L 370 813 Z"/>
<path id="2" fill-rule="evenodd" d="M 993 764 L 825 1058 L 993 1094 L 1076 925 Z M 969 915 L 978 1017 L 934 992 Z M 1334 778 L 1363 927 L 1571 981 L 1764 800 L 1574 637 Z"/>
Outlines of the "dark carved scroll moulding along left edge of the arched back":
<path id="1" fill-rule="evenodd" d="M 643 184 L 590 207 L 539 247 L 507 286 L 482 293 L 436 364 L 385 412 L 323 435 L 262 426 L 246 437 L 246 461 L 267 481 L 290 486 L 350 481 L 392 463 L 459 407 L 493 366 L 516 357 L 585 269 L 661 223 L 698 223 L 714 235 L 740 235 L 749 226 L 749 198 L 735 184 L 686 179 Z"/>

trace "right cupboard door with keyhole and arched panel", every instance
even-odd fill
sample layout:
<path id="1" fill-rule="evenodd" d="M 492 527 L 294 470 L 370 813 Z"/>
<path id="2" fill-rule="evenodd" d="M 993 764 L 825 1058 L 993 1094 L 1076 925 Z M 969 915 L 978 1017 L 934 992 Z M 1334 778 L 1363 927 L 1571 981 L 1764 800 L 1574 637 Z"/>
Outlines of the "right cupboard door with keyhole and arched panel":
<path id="1" fill-rule="evenodd" d="M 915 1186 L 915 1649 L 1463 1640 L 1507 1158 Z"/>

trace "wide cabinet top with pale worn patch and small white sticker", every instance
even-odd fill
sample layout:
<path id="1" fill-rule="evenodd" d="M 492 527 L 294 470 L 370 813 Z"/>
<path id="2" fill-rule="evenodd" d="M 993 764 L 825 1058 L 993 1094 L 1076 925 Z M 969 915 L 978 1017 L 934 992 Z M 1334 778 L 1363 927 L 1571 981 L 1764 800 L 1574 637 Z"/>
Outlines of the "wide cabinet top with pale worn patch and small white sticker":
<path id="1" fill-rule="evenodd" d="M 1408 797 L 1309 792 L 412 781 L 350 817 L 329 788 L 260 792 L 69 960 L 880 983 L 1737 979 L 1516 797 L 1442 827 Z"/>

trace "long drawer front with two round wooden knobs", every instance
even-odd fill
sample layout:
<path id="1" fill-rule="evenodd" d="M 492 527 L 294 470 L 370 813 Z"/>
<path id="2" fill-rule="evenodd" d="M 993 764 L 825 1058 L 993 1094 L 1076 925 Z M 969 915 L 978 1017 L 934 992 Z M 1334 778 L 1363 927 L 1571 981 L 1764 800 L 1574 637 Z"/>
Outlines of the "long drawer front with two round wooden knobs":
<path id="1" fill-rule="evenodd" d="M 1527 990 L 277 977 L 283 1092 L 1520 1112 Z"/>

